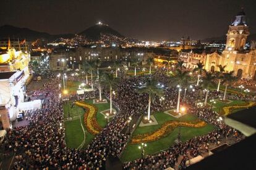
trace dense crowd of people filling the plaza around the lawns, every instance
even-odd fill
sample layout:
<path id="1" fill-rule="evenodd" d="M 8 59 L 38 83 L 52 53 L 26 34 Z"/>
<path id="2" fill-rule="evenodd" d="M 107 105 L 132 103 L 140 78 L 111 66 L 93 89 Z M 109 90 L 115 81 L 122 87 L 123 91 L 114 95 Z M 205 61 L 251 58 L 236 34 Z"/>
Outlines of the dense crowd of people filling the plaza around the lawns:
<path id="1" fill-rule="evenodd" d="M 166 110 L 176 107 L 177 88 L 167 87 L 169 79 L 160 71 L 156 71 L 154 78 L 164 84 L 164 97 L 160 101 L 157 97 L 152 103 L 151 110 Z M 45 86 L 28 94 L 34 98 L 44 99 L 41 110 L 28 118 L 28 126 L 15 127 L 7 131 L 7 136 L 1 145 L 4 153 L 15 153 L 13 169 L 104 169 L 109 155 L 119 156 L 126 148 L 129 140 L 123 130 L 127 127 L 129 116 L 137 118 L 147 114 L 147 94 L 138 94 L 134 86 L 148 79 L 149 76 L 123 78 L 116 87 L 113 96 L 114 105 L 119 108 L 114 116 L 95 139 L 81 150 L 69 149 L 65 143 L 64 114 L 62 100 L 59 98 L 59 79 L 50 78 Z M 108 92 L 105 90 L 106 96 Z M 186 168 L 186 161 L 190 156 L 199 155 L 202 150 L 208 150 L 210 143 L 219 144 L 220 139 L 237 137 L 234 129 L 217 121 L 218 113 L 210 108 L 197 108 L 199 91 L 187 91 L 182 104 L 189 106 L 190 113 L 197 115 L 208 123 L 218 127 L 205 136 L 194 137 L 184 143 L 171 146 L 168 150 L 157 155 L 147 155 L 134 161 L 124 163 L 124 169 L 162 169 L 174 167 L 182 155 L 179 168 Z M 218 94 L 211 94 L 218 95 Z M 235 135 L 236 134 L 236 135 Z"/>

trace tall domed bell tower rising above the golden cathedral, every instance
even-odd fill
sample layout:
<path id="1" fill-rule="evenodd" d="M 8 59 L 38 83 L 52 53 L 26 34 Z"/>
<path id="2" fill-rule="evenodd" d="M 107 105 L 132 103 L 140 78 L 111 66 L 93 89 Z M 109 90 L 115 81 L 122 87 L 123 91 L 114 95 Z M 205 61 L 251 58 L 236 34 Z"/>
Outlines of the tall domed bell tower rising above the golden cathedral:
<path id="1" fill-rule="evenodd" d="M 243 9 L 236 15 L 236 19 L 233 21 L 233 23 L 229 25 L 229 30 L 226 36 L 226 50 L 244 50 L 247 36 L 249 36 L 249 27 L 247 26 Z"/>

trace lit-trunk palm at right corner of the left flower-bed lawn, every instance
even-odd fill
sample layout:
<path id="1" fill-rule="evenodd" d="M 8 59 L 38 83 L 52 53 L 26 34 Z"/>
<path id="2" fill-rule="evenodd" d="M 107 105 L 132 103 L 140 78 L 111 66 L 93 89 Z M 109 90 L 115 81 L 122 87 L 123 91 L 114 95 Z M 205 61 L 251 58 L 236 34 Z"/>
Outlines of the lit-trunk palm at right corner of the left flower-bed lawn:
<path id="1" fill-rule="evenodd" d="M 114 78 L 114 75 L 111 73 L 105 73 L 102 77 L 102 83 L 109 86 L 109 102 L 110 102 L 110 114 L 113 112 L 112 107 L 112 93 L 113 93 L 113 87 L 117 86 L 118 79 Z"/>

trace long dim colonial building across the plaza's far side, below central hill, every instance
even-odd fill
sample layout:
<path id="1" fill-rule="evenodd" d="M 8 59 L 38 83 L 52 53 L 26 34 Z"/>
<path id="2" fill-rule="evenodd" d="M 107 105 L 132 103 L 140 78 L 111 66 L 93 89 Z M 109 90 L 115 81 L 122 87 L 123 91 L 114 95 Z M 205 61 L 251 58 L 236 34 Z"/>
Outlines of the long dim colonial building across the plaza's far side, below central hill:
<path id="1" fill-rule="evenodd" d="M 149 57 L 155 57 L 149 49 L 122 48 L 122 47 L 83 47 L 79 46 L 72 51 L 56 51 L 49 54 L 51 70 L 64 70 L 67 68 L 80 69 L 84 61 L 90 62 L 99 59 L 103 67 L 113 62 L 128 62 L 137 58 L 143 64 Z"/>

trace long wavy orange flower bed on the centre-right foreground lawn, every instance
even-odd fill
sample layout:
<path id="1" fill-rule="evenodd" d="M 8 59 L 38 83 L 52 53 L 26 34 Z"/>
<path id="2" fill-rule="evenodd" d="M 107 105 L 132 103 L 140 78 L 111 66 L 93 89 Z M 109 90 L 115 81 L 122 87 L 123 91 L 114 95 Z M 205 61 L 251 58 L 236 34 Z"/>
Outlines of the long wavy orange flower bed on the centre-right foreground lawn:
<path id="1" fill-rule="evenodd" d="M 153 131 L 147 134 L 139 134 L 137 136 L 132 137 L 131 144 L 140 144 L 141 142 L 153 142 L 162 137 L 168 136 L 168 134 L 178 126 L 200 128 L 200 127 L 205 127 L 206 125 L 207 123 L 202 120 L 196 120 L 192 122 L 166 121 L 166 123 L 164 123 L 156 131 Z"/>

